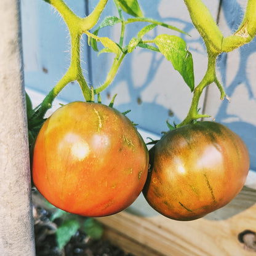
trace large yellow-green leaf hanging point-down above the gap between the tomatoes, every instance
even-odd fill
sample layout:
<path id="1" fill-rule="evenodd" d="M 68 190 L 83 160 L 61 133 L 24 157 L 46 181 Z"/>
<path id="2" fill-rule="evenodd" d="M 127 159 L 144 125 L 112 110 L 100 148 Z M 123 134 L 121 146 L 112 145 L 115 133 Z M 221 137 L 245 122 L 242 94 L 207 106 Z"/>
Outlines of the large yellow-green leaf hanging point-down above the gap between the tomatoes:
<path id="1" fill-rule="evenodd" d="M 184 81 L 190 87 L 191 92 L 194 90 L 194 68 L 191 53 L 186 49 L 186 42 L 178 36 L 169 34 L 160 34 L 154 39 L 160 52 L 167 58 L 175 70 L 183 77 Z"/>

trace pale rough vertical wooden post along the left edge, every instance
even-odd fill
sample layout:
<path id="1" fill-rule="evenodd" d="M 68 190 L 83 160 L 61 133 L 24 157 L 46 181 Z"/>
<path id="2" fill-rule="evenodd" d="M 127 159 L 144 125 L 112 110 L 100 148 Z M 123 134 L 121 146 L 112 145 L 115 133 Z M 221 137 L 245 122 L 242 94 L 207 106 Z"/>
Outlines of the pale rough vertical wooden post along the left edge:
<path id="1" fill-rule="evenodd" d="M 20 1 L 0 1 L 0 255 L 35 255 Z"/>

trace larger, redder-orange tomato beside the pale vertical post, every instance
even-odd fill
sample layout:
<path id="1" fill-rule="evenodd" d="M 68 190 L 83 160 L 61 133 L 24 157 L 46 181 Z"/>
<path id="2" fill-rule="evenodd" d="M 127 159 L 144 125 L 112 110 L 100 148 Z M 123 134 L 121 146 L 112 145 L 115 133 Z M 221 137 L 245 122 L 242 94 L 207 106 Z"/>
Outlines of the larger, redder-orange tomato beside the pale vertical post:
<path id="1" fill-rule="evenodd" d="M 100 103 L 62 106 L 34 146 L 33 180 L 54 206 L 101 217 L 135 201 L 148 174 L 148 150 L 132 122 Z"/>

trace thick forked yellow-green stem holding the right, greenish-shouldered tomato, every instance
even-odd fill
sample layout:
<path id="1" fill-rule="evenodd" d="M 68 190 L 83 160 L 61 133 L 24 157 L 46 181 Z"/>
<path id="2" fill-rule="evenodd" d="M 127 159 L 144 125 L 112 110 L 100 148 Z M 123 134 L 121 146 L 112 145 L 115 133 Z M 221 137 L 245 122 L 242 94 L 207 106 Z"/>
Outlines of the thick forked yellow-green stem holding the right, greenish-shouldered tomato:
<path id="1" fill-rule="evenodd" d="M 202 90 L 215 82 L 220 90 L 220 98 L 223 100 L 226 97 L 225 90 L 217 79 L 215 72 L 216 58 L 223 52 L 231 52 L 232 50 L 241 47 L 242 45 L 252 41 L 256 35 L 256 0 L 249 0 L 247 2 L 246 12 L 238 30 L 231 36 L 223 37 L 214 18 L 209 12 L 209 9 L 201 0 L 184 0 L 193 25 L 201 34 L 202 39 L 206 45 L 208 54 L 207 71 L 202 78 L 202 81 L 194 89 L 194 94 L 190 106 L 190 110 L 186 118 L 177 125 L 177 127 L 190 124 L 199 118 L 207 118 L 207 114 L 198 113 L 198 103 L 201 97 Z M 227 98 L 227 97 L 226 97 Z"/>

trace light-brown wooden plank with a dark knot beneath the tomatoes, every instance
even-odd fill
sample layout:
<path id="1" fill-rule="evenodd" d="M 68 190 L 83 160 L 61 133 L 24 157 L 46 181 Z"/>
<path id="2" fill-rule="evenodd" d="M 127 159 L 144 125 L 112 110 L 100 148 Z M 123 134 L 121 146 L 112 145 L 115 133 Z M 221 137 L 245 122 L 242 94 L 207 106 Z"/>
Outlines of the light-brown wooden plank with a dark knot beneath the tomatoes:
<path id="1" fill-rule="evenodd" d="M 191 222 L 178 222 L 156 214 L 140 217 L 127 211 L 97 218 L 106 237 L 138 255 L 254 256 L 238 241 L 244 230 L 256 231 L 256 191 L 244 187 L 226 207 Z M 118 239 L 119 238 L 119 239 Z"/>

